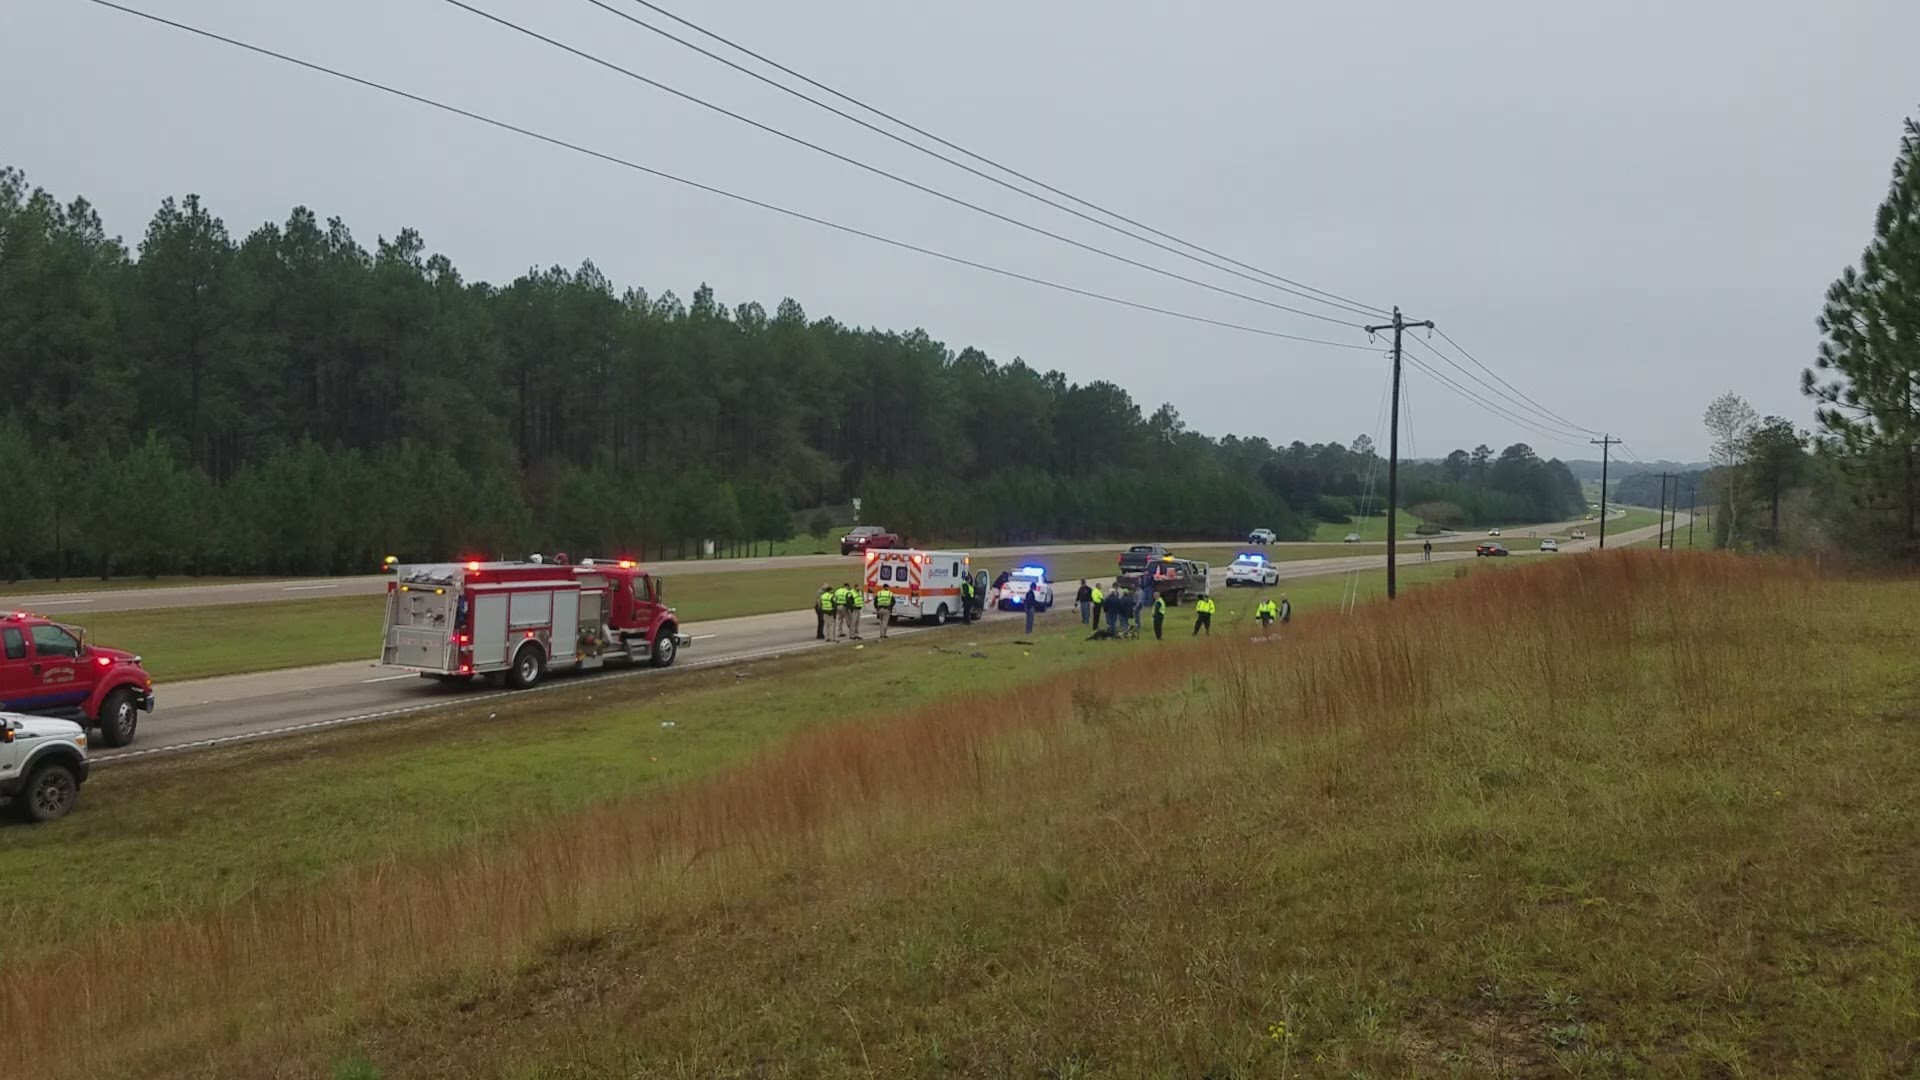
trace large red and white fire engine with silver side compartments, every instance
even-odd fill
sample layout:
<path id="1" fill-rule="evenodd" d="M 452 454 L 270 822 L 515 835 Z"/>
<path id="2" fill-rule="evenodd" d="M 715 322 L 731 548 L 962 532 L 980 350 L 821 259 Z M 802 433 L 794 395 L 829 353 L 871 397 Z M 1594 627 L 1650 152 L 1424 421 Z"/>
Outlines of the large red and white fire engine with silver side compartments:
<path id="1" fill-rule="evenodd" d="M 399 567 L 386 586 L 380 663 L 518 690 L 549 671 L 609 661 L 666 667 L 693 638 L 680 632 L 660 584 L 630 561 Z"/>

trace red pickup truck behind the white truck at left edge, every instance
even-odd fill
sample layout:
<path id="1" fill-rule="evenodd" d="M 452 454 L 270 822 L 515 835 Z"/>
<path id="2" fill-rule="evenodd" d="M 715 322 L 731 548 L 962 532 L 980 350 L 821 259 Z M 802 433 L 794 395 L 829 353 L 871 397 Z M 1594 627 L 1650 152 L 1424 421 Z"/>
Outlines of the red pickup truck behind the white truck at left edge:
<path id="1" fill-rule="evenodd" d="M 102 746 L 127 746 L 154 711 L 140 657 L 86 642 L 86 632 L 27 611 L 0 613 L 0 711 L 77 719 Z"/>

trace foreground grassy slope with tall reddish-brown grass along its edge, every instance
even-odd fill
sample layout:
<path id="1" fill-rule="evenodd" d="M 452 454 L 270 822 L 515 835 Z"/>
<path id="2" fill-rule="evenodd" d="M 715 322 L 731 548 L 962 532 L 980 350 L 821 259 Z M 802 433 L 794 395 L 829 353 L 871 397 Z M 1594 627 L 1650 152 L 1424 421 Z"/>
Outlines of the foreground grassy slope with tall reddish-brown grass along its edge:
<path id="1" fill-rule="evenodd" d="M 42 1074 L 1899 1074 L 1916 601 L 1617 552 L 1117 646 L 10 959 L 0 1040 Z"/>

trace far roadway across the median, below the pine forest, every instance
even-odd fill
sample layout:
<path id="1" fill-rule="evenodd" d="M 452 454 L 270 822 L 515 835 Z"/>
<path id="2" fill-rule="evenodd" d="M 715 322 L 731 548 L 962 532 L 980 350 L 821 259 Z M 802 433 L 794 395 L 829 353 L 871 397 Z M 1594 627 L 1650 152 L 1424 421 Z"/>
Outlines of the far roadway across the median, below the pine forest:
<path id="1" fill-rule="evenodd" d="M 1532 532 L 1555 532 L 1576 528 L 1586 523 L 1569 521 L 1557 525 L 1534 525 L 1528 527 Z M 1519 528 L 1511 528 L 1519 536 Z M 1469 538 L 1465 532 L 1448 532 L 1444 536 L 1434 536 L 1434 540 L 1461 540 Z M 1298 542 L 1308 544 L 1308 542 Z M 1402 540 L 1402 544 L 1419 546 L 1419 540 Z M 1188 544 L 1173 544 L 1173 550 L 1181 548 L 1219 548 L 1217 540 L 1194 540 Z M 1283 548 L 1296 546 L 1281 544 Z M 1323 544 L 1321 544 L 1323 546 Z M 1044 552 L 1058 552 L 1066 555 L 1085 553 L 1085 552 L 1119 552 L 1119 544 L 1064 544 L 1050 546 Z M 1384 540 L 1371 540 L 1365 544 L 1354 544 L 1354 550 L 1380 552 L 1386 548 Z M 979 548 L 973 550 L 977 559 L 995 559 L 1006 555 L 1031 555 L 1043 548 Z M 1340 555 L 1346 557 L 1346 555 Z M 662 577 L 682 577 L 682 575 L 716 575 L 716 573 L 739 573 L 739 571 L 780 571 L 780 569 L 806 569 L 806 567 L 847 567 L 852 565 L 852 555 L 778 555 L 760 559 L 678 559 L 664 563 L 647 563 L 647 567 Z M 1308 563 L 1319 565 L 1325 559 L 1309 559 Z M 1300 563 L 1300 565 L 1308 565 Z M 1298 577 L 1298 575 L 1294 575 Z M 157 607 L 213 607 L 221 603 L 288 603 L 294 600 L 321 600 L 332 596 L 378 596 L 386 592 L 386 582 L 392 580 L 384 575 L 365 575 L 365 577 L 340 577 L 340 578 L 290 578 L 290 580 L 259 580 L 259 582 L 230 582 L 230 584 L 188 584 L 171 588 L 119 588 L 119 590 L 77 590 L 77 592 L 50 592 L 40 596 L 0 596 L 0 609 L 25 609 L 40 611 L 46 615 L 88 615 L 94 611 L 150 611 Z"/>

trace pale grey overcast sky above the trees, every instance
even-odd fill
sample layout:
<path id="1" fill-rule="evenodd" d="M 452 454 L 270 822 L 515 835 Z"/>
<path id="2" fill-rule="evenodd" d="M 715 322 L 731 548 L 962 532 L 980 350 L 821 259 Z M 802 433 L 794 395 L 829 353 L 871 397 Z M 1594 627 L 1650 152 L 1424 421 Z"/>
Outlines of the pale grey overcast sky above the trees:
<path id="1" fill-rule="evenodd" d="M 995 188 L 588 0 L 470 2 L 1056 233 L 1363 321 Z M 1822 290 L 1864 246 L 1899 123 L 1920 106 L 1912 0 L 660 2 L 1146 225 L 1434 319 L 1521 392 L 1647 459 L 1703 457 L 1699 417 L 1724 390 L 1809 421 L 1797 377 Z M 1365 340 L 943 204 L 444 0 L 127 4 L 956 256 L 1212 319 Z M 200 192 L 236 234 L 305 204 L 344 217 L 367 246 L 413 225 L 488 281 L 591 258 L 653 292 L 689 296 L 707 281 L 728 304 L 793 296 L 814 317 L 924 327 L 956 350 L 1112 379 L 1212 434 L 1344 442 L 1380 430 L 1386 361 L 1375 354 L 1119 309 L 876 246 L 86 0 L 6 0 L 0 40 L 0 163 L 88 196 L 131 242 L 165 194 Z M 1417 373 L 1407 398 L 1419 455 L 1515 440 L 1594 455 Z"/>

